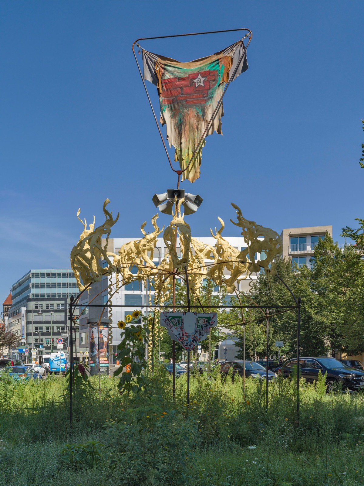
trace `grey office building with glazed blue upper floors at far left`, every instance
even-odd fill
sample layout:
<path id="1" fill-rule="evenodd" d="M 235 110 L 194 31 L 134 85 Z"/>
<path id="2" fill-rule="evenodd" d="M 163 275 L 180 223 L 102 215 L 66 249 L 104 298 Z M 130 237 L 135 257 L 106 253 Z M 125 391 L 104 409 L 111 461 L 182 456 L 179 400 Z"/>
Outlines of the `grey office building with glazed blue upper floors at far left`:
<path id="1" fill-rule="evenodd" d="M 63 349 L 69 347 L 68 303 L 71 295 L 78 294 L 71 269 L 30 270 L 14 283 L 11 293 L 9 330 L 19 336 L 21 348 L 29 350 L 26 355 L 15 348 L 13 358 L 30 361 L 35 345 L 43 345 L 39 354 L 49 354 L 60 348 L 59 338 L 63 340 Z M 73 341 L 77 342 L 74 336 Z"/>

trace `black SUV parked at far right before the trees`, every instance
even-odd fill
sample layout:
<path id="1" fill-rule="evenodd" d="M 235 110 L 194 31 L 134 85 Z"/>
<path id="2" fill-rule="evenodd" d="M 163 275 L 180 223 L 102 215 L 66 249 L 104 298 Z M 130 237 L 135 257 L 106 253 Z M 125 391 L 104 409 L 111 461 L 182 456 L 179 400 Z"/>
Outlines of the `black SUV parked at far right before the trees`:
<path id="1" fill-rule="evenodd" d="M 296 364 L 297 359 L 286 361 L 283 366 L 281 366 L 279 374 L 283 377 L 290 376 Z M 317 381 L 318 372 L 320 370 L 323 375 L 327 373 L 326 385 L 328 392 L 333 390 L 335 385 L 339 382 L 341 382 L 343 388 L 347 390 L 364 389 L 364 371 L 349 368 L 335 358 L 330 358 L 328 356 L 301 358 L 299 360 L 299 370 L 306 382 L 311 383 Z"/>

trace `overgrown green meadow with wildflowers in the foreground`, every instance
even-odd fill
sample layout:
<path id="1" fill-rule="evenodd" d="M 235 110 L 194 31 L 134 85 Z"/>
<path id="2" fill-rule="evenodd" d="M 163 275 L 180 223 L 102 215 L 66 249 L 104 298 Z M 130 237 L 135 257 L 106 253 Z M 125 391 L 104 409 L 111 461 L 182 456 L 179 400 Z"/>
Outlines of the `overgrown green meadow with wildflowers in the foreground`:
<path id="1" fill-rule="evenodd" d="M 322 379 L 231 376 L 172 382 L 164 368 L 136 395 L 116 378 L 78 386 L 69 426 L 66 379 L 0 378 L 0 484 L 290 486 L 364 484 L 364 395 L 327 395 Z"/>

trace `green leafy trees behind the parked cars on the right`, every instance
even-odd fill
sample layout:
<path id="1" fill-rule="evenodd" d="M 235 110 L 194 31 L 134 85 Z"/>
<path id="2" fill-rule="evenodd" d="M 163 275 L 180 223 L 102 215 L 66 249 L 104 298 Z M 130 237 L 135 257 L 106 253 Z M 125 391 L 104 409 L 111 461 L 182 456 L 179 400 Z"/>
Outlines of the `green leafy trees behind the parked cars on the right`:
<path id="1" fill-rule="evenodd" d="M 344 249 L 326 234 L 319 239 L 311 259 L 312 269 L 306 265 L 292 267 L 288 260 L 278 260 L 278 275 L 301 297 L 300 353 L 320 356 L 335 352 L 348 355 L 364 351 L 364 260 L 355 246 Z M 247 296 L 242 296 L 251 305 Z M 276 277 L 260 275 L 253 286 L 251 299 L 263 310 L 271 305 L 292 306 L 292 295 Z M 287 357 L 297 352 L 297 309 L 271 309 L 269 318 L 269 353 L 277 354 L 275 341 L 283 341 Z M 251 348 L 265 356 L 265 318 L 260 309 L 247 314 L 246 356 Z M 251 330 L 253 335 L 251 335 Z M 242 329 L 237 330 L 242 347 Z M 242 352 L 238 357 L 242 356 Z M 248 358 L 247 358 L 248 359 Z"/>

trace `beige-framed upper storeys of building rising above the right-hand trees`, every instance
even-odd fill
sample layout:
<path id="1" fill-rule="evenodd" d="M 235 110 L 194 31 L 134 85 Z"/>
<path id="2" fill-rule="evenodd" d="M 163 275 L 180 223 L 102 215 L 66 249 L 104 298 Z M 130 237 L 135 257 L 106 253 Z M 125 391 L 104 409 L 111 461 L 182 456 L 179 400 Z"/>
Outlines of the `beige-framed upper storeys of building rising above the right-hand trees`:
<path id="1" fill-rule="evenodd" d="M 307 228 L 284 228 L 281 232 L 283 242 L 283 258 L 297 263 L 299 267 L 311 267 L 310 259 L 314 256 L 314 248 L 319 238 L 329 233 L 332 237 L 332 226 L 308 226 Z"/>

